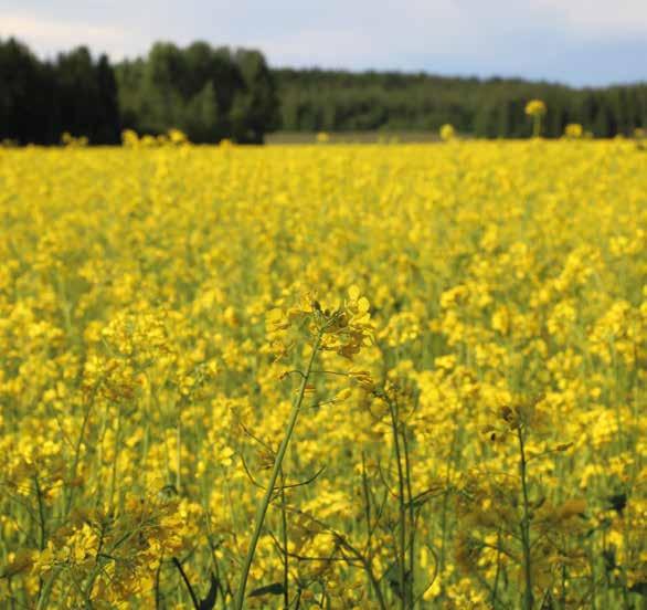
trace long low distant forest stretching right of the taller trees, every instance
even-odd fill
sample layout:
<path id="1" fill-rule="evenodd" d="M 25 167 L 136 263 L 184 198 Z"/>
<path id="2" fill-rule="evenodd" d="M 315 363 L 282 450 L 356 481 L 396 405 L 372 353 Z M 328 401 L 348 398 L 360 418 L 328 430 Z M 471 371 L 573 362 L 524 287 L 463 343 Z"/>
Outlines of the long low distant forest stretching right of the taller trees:
<path id="1" fill-rule="evenodd" d="M 647 126 L 647 83 L 573 88 L 510 78 L 456 78 L 395 72 L 276 70 L 282 128 L 290 132 L 436 130 L 449 123 L 477 137 L 528 137 L 531 98 L 548 106 L 543 135 L 580 123 L 597 137 Z"/>

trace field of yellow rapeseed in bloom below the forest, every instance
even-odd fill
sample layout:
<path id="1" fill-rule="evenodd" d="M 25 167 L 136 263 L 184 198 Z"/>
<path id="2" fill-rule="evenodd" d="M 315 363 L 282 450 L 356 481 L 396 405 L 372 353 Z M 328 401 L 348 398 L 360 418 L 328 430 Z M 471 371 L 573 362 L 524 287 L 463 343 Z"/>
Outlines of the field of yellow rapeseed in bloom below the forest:
<path id="1" fill-rule="evenodd" d="M 640 146 L 127 144 L 0 149 L 0 608 L 644 608 Z"/>

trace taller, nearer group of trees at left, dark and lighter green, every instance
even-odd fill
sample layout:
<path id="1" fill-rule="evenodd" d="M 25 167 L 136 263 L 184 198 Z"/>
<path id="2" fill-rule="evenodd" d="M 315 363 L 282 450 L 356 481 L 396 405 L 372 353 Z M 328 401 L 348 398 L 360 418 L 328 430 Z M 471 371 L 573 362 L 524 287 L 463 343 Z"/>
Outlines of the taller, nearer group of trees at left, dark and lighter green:
<path id="1" fill-rule="evenodd" d="M 257 51 L 157 43 L 112 66 L 86 48 L 40 61 L 0 40 L 0 140 L 57 144 L 64 133 L 115 144 L 123 129 L 179 128 L 194 143 L 262 143 L 279 125 L 273 75 Z"/>

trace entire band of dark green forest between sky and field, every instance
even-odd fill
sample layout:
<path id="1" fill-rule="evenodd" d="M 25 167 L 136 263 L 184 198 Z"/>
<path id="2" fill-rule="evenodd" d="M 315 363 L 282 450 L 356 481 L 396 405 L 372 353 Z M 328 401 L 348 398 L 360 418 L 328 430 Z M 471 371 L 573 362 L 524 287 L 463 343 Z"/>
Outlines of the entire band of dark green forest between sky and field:
<path id="1" fill-rule="evenodd" d="M 262 143 L 267 133 L 435 132 L 528 137 L 524 114 L 543 99 L 543 135 L 580 123 L 596 137 L 647 127 L 647 83 L 574 88 L 519 78 L 268 67 L 259 51 L 156 43 L 146 57 L 112 65 L 86 48 L 40 60 L 0 40 L 0 140 L 57 144 L 63 133 L 115 144 L 125 128 L 192 141 Z"/>

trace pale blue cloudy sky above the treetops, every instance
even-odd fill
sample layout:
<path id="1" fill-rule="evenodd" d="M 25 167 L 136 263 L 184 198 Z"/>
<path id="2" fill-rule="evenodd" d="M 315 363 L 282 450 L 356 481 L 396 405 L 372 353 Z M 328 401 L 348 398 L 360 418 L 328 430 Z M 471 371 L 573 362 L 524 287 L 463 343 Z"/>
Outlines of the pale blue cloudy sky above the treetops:
<path id="1" fill-rule="evenodd" d="M 0 38 L 112 60 L 158 40 L 255 48 L 276 67 L 647 81 L 647 0 L 0 0 Z"/>

